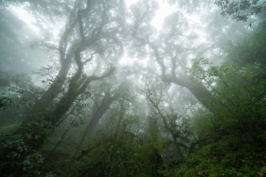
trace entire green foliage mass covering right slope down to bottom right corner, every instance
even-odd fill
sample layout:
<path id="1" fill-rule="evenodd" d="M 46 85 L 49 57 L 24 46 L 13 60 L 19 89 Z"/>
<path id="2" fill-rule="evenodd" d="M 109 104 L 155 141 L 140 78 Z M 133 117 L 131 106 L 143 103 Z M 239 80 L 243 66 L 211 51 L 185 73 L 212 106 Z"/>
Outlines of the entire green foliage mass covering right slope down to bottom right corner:
<path id="1" fill-rule="evenodd" d="M 188 73 L 192 79 L 202 80 L 212 93 L 212 113 L 195 119 L 197 136 L 203 132 L 209 141 L 171 173 L 183 177 L 264 175 L 266 70 L 261 48 L 264 44 L 262 31 L 241 44 L 231 45 L 221 66 L 212 65 L 209 59 L 193 59 Z M 205 131 L 200 127 L 202 122 L 207 123 Z"/>

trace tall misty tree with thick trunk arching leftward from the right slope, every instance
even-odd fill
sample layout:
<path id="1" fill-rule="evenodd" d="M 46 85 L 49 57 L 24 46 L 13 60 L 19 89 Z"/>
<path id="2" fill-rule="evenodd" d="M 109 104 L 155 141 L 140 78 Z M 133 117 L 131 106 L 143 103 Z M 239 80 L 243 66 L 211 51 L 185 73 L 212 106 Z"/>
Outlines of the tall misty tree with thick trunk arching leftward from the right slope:
<path id="1" fill-rule="evenodd" d="M 145 46 L 145 48 L 136 49 L 136 51 L 155 58 L 157 64 L 161 67 L 161 71 L 157 71 L 156 74 L 160 73 L 160 77 L 164 82 L 187 88 L 202 105 L 213 111 L 211 110 L 211 92 L 201 80 L 192 80 L 186 73 L 186 68 L 189 67 L 192 57 L 201 58 L 204 54 L 209 55 L 208 53 L 210 52 L 215 54 L 215 51 L 219 50 L 217 49 L 218 42 L 216 40 L 220 39 L 217 38 L 215 41 L 210 40 L 206 41 L 206 43 L 200 43 L 198 40 L 200 36 L 196 35 L 197 31 L 189 29 L 190 25 L 188 19 L 186 19 L 186 14 L 182 14 L 179 11 L 166 17 L 165 28 L 158 32 L 151 27 L 149 21 L 146 20 L 147 17 L 144 18 L 148 10 L 145 11 L 142 8 L 143 5 L 139 5 L 135 9 L 137 11 L 135 13 L 138 13 L 139 17 L 134 19 L 132 37 L 135 42 L 133 43 L 134 47 Z M 235 29 L 232 29 L 232 32 L 233 30 Z M 154 35 L 156 32 L 157 35 Z M 212 34 L 210 33 L 209 35 Z M 220 37 L 222 38 L 222 36 Z M 198 47 L 199 45 L 203 47 Z M 213 56 L 213 58 L 215 57 Z"/>

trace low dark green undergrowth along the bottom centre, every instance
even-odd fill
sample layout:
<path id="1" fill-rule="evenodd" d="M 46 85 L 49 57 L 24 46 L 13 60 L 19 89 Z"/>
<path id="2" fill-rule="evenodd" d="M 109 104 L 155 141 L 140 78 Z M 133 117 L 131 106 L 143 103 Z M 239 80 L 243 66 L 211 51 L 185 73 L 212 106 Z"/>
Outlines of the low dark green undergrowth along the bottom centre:
<path id="1" fill-rule="evenodd" d="M 164 156 L 164 140 L 147 140 L 144 135 L 125 132 L 123 136 L 98 134 L 88 142 L 89 147 L 81 150 L 81 159 L 71 162 L 59 160 L 49 165 L 49 170 L 62 177 L 114 177 L 147 176 L 163 177 L 167 174 L 164 164 L 158 164 L 157 158 Z M 66 148 L 59 153 L 67 154 Z M 58 154 L 57 154 L 58 155 Z"/>

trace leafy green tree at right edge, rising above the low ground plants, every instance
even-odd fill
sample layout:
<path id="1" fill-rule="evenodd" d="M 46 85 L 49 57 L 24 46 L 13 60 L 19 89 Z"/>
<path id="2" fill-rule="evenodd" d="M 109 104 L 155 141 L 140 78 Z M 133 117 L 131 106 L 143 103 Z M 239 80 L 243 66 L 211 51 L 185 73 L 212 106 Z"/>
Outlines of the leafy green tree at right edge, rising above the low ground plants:
<path id="1" fill-rule="evenodd" d="M 221 66 L 211 66 L 208 59 L 194 59 L 189 73 L 204 80 L 212 93 L 212 110 L 216 122 L 227 134 L 246 134 L 257 143 L 265 140 L 265 68 L 261 48 L 264 31 L 255 34 L 242 44 L 228 49 L 227 59 Z M 264 40 L 263 40 L 264 41 Z M 261 43 L 262 42 L 262 43 Z M 252 47 L 250 47 L 252 45 Z M 247 48 L 247 46 L 249 46 Z M 245 50 L 242 56 L 242 50 Z M 208 69 L 204 69 L 207 68 Z M 218 123 L 220 122 L 220 123 Z M 215 123 L 215 124 L 216 124 Z"/>

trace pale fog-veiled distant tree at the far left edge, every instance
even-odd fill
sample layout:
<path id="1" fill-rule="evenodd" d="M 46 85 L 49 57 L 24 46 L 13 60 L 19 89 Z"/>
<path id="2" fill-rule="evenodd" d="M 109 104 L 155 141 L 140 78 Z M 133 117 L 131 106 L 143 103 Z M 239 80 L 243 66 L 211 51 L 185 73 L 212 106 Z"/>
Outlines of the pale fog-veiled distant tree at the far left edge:
<path id="1" fill-rule="evenodd" d="M 33 38 L 38 39 L 37 35 L 13 11 L 1 8 L 0 19 L 1 70 L 8 74 L 30 74 L 33 66 L 38 67 L 45 61 L 35 58 L 42 53 L 41 50 L 33 51 L 28 48 Z M 33 34 L 29 36 L 29 33 Z"/>

